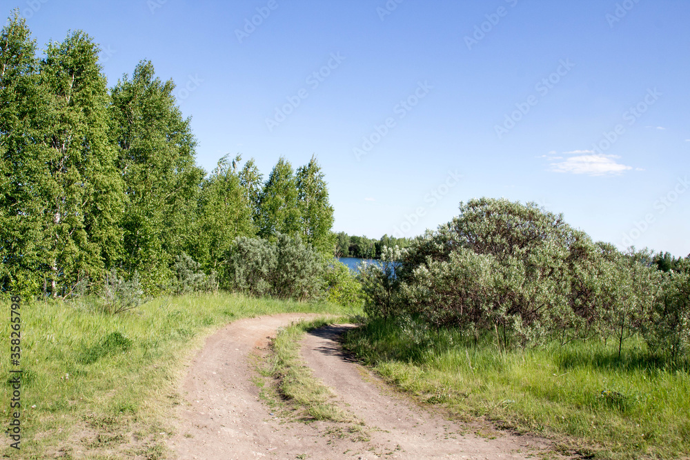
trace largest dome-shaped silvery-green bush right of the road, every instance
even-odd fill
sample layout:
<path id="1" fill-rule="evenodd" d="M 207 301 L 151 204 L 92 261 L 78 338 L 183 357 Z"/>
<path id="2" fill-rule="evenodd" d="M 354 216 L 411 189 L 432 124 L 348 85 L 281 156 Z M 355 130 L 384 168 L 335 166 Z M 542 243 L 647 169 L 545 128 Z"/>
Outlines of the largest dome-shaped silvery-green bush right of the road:
<path id="1" fill-rule="evenodd" d="M 593 243 L 561 216 L 477 199 L 413 243 L 400 277 L 413 311 L 437 327 L 491 330 L 501 348 L 524 346 L 578 325 L 571 295 L 571 274 L 584 268 L 578 252 L 593 253 Z"/>

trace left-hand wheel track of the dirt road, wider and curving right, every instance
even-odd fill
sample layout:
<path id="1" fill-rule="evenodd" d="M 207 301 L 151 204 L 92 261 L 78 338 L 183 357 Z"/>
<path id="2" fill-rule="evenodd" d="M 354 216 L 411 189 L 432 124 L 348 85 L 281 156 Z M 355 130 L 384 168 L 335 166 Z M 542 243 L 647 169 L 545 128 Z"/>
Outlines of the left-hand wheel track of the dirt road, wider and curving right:
<path id="1" fill-rule="evenodd" d="M 186 404 L 179 410 L 177 434 L 168 441 L 177 458 L 353 458 L 352 442 L 327 436 L 324 423 L 277 419 L 259 400 L 259 389 L 252 382 L 256 372 L 248 359 L 250 353 L 266 348 L 277 328 L 318 316 L 323 315 L 240 319 L 206 339 L 181 385 Z"/>

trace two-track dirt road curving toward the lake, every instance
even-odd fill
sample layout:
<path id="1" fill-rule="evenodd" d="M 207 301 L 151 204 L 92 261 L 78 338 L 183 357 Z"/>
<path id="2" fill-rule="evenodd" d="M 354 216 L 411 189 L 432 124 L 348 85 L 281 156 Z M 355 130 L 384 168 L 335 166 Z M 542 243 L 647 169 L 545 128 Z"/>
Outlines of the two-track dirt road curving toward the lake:
<path id="1" fill-rule="evenodd" d="M 333 423 L 284 421 L 259 399 L 249 356 L 277 328 L 315 315 L 278 314 L 230 323 L 209 337 L 181 391 L 188 402 L 169 446 L 179 459 L 526 459 L 547 448 L 538 439 L 500 434 L 485 439 L 389 390 L 341 354 L 347 326 L 315 330 L 302 344 L 308 366 L 366 423 L 368 439 L 333 435 Z"/>

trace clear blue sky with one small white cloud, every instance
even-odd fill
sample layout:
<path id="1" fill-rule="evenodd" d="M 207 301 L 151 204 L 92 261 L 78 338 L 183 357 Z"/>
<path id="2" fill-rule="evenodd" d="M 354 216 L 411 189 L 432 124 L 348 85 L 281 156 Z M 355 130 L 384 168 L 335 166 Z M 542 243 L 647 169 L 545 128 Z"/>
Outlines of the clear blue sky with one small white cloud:
<path id="1" fill-rule="evenodd" d="M 686 0 L 5 4 L 41 48 L 92 35 L 109 86 L 150 59 L 206 170 L 316 154 L 334 230 L 413 236 L 506 197 L 690 253 Z"/>

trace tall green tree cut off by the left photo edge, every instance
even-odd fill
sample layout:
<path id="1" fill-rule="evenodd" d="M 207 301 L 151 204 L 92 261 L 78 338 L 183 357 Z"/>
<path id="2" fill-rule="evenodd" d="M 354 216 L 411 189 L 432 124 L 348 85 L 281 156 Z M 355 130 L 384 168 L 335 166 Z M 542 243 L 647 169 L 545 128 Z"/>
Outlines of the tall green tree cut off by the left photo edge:
<path id="1" fill-rule="evenodd" d="M 36 44 L 14 10 L 0 32 L 0 290 L 39 286 L 39 195 L 30 187 L 35 117 L 46 113 L 38 86 Z M 42 106 L 43 105 L 43 106 Z"/>

